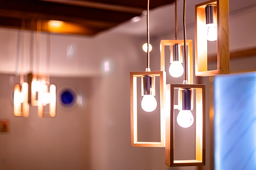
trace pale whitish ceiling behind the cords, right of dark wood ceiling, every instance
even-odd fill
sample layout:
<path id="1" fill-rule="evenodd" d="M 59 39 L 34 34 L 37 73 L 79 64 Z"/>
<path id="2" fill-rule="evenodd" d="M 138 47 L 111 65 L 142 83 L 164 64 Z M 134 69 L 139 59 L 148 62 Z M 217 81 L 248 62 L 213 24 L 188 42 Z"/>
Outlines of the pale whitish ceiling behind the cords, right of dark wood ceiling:
<path id="1" fill-rule="evenodd" d="M 183 0 L 177 1 L 178 9 L 178 29 L 183 28 Z M 195 5 L 205 2 L 205 0 L 186 1 L 186 25 L 195 23 Z M 229 12 L 236 13 L 242 9 L 256 7 L 255 0 L 230 0 Z M 137 23 L 126 22 L 114 28 L 116 33 L 146 36 L 146 16 L 141 15 L 141 20 Z M 158 34 L 174 34 L 175 29 L 175 4 L 159 7 L 149 12 L 150 36 Z"/>

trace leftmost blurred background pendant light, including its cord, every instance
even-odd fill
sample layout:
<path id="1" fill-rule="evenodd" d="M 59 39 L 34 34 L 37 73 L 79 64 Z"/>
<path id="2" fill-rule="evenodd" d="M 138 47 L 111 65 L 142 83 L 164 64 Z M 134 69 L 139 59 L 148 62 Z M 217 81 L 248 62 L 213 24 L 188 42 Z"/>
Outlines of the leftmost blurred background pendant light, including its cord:
<path id="1" fill-rule="evenodd" d="M 22 19 L 21 39 L 20 39 L 20 84 L 14 87 L 14 115 L 29 116 L 28 104 L 28 83 L 24 82 L 24 34 L 25 34 L 25 19 Z"/>

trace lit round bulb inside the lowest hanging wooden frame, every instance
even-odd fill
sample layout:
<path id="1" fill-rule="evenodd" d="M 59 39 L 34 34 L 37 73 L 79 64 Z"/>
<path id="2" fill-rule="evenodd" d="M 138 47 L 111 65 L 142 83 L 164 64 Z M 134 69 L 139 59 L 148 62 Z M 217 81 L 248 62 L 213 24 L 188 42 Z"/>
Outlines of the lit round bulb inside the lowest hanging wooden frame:
<path id="1" fill-rule="evenodd" d="M 194 122 L 194 117 L 190 110 L 181 110 L 177 116 L 177 122 L 181 127 L 190 127 Z"/>

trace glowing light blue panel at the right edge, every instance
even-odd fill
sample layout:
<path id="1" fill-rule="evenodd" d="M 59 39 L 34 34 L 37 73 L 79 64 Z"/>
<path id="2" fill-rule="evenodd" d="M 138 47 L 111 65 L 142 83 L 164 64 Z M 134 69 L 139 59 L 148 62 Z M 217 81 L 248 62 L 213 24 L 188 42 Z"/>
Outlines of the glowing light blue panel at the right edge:
<path id="1" fill-rule="evenodd" d="M 256 73 L 214 80 L 215 169 L 256 169 Z"/>

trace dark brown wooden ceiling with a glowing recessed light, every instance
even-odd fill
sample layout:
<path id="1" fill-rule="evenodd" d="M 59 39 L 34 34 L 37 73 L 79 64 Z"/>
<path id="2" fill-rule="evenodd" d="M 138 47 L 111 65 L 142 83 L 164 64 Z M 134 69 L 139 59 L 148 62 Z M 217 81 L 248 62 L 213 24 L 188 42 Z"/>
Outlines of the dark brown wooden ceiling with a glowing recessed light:
<path id="1" fill-rule="evenodd" d="M 150 9 L 174 1 L 150 1 Z M 140 16 L 146 7 L 146 0 L 2 0 L 0 27 L 36 30 L 40 23 L 42 31 L 93 36 Z"/>

